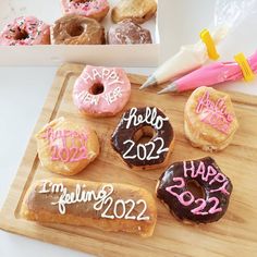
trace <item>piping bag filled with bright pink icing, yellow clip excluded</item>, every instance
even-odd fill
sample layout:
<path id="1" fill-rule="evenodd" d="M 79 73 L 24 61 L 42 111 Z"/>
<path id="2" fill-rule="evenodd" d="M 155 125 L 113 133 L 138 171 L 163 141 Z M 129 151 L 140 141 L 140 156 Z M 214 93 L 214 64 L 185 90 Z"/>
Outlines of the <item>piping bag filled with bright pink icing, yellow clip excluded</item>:
<path id="1" fill-rule="evenodd" d="M 257 52 L 248 58 L 248 64 L 253 73 L 257 73 Z M 224 82 L 242 79 L 244 74 L 237 62 L 216 62 L 203 66 L 179 79 L 158 94 L 181 93 L 192 90 L 200 86 L 213 86 Z"/>

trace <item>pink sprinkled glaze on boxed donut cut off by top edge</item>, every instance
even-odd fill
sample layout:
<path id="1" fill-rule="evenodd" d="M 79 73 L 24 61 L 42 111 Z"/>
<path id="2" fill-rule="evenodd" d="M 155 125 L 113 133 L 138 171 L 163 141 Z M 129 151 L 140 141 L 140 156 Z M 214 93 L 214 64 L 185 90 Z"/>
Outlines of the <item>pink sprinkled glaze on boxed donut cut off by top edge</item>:
<path id="1" fill-rule="evenodd" d="M 83 16 L 91 16 L 109 8 L 107 0 L 89 0 L 86 2 L 61 0 L 61 3 L 65 14 L 78 14 Z"/>

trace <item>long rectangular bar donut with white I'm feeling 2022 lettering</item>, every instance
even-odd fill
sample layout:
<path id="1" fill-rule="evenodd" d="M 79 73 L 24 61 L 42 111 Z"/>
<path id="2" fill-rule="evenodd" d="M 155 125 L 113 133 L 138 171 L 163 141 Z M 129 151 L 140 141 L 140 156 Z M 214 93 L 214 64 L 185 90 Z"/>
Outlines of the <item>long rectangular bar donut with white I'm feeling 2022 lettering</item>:
<path id="1" fill-rule="evenodd" d="M 157 208 L 148 191 L 133 185 L 51 178 L 29 186 L 20 215 L 40 223 L 86 225 L 149 237 Z"/>

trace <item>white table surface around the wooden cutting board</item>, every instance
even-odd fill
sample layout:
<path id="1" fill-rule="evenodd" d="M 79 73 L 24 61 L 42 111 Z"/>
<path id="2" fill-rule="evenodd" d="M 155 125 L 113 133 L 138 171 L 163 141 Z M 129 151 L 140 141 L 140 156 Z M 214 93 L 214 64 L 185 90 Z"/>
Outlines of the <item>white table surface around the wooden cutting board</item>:
<path id="1" fill-rule="evenodd" d="M 213 20 L 213 0 L 160 0 L 162 21 L 161 60 L 175 53 L 181 45 L 195 42 L 199 30 Z M 32 2 L 32 4 L 35 4 Z M 257 17 L 240 26 L 219 48 L 223 60 L 232 60 L 240 51 L 250 54 L 256 50 Z M 0 207 L 15 176 L 30 133 L 38 119 L 57 66 L 0 68 Z M 152 69 L 127 69 L 150 74 Z M 229 90 L 257 95 L 257 82 L 222 85 Z M 0 231 L 0 256 L 89 256 L 51 244 L 41 243 Z"/>

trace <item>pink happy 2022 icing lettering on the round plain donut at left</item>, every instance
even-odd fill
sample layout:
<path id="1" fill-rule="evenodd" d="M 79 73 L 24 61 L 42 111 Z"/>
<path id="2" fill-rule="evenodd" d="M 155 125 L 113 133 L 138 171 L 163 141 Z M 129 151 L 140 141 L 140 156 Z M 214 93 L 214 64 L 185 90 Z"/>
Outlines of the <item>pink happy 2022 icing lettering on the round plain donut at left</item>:
<path id="1" fill-rule="evenodd" d="M 49 126 L 41 138 L 48 140 L 52 161 L 62 161 L 66 163 L 77 162 L 89 158 L 86 148 L 88 137 L 83 132 L 69 130 L 54 131 Z M 71 140 L 71 147 L 68 146 L 68 139 Z M 76 142 L 79 143 L 79 147 L 76 146 Z"/>

